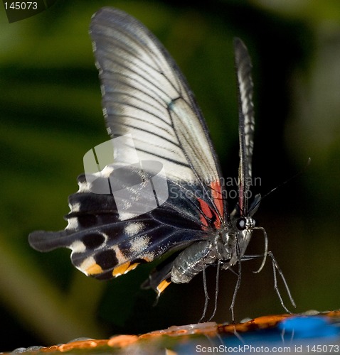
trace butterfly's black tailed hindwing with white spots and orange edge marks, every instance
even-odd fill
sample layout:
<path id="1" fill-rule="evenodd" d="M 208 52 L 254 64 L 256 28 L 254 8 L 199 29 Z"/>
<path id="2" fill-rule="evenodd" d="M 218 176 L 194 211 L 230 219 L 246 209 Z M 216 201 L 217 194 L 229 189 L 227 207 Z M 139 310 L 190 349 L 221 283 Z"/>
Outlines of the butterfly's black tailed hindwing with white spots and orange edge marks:
<path id="1" fill-rule="evenodd" d="M 80 175 L 78 183 L 85 185 L 84 175 Z M 86 191 L 70 195 L 71 212 L 65 217 L 65 230 L 35 231 L 29 236 L 30 244 L 38 251 L 71 249 L 76 268 L 86 275 L 107 279 L 122 275 L 139 263 L 153 261 L 171 249 L 184 249 L 193 241 L 206 239 L 208 217 L 201 217 L 196 187 L 173 185 L 170 181 L 168 184 L 167 202 L 132 219 L 119 217 L 112 195 Z M 212 208 L 208 206 L 206 213 Z"/>

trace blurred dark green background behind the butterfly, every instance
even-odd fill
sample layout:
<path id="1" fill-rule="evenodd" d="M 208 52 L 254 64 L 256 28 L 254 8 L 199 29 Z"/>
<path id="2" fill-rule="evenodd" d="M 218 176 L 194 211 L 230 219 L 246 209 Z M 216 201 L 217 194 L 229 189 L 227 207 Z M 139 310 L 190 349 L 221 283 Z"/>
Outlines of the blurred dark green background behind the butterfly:
<path id="1" fill-rule="evenodd" d="M 312 158 L 262 201 L 255 217 L 289 283 L 294 311 L 339 308 L 339 1 L 59 0 L 11 24 L 2 7 L 0 351 L 138 334 L 201 317 L 201 275 L 171 285 L 153 307 L 154 293 L 139 285 L 154 265 L 103 283 L 76 271 L 68 250 L 43 254 L 28 246 L 31 231 L 65 227 L 83 155 L 108 139 L 88 35 L 92 13 L 107 5 L 139 18 L 174 56 L 206 117 L 225 178 L 238 169 L 232 39 L 244 40 L 255 82 L 253 168 L 261 178 L 255 192 L 264 195 Z M 255 234 L 248 252 L 262 249 Z M 270 262 L 253 274 L 258 266 L 243 264 L 237 321 L 284 312 Z M 207 275 L 213 299 L 216 270 Z M 235 281 L 232 273 L 221 274 L 216 322 L 230 321 Z"/>

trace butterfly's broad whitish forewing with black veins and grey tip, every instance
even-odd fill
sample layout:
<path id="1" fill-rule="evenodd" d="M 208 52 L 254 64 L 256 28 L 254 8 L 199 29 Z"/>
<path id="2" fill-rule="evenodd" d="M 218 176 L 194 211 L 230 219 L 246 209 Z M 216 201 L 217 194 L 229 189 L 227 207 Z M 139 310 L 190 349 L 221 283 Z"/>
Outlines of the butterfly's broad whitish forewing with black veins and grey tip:
<path id="1" fill-rule="evenodd" d="M 159 40 L 132 16 L 110 8 L 95 14 L 90 34 L 110 135 L 132 134 L 139 159 L 161 161 L 171 180 L 218 181 L 201 111 Z"/>

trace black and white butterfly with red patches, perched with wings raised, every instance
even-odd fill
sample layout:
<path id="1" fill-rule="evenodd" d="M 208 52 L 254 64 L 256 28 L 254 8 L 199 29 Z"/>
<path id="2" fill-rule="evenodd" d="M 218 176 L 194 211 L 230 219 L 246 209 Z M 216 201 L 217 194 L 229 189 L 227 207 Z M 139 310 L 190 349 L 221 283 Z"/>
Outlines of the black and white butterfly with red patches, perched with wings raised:
<path id="1" fill-rule="evenodd" d="M 218 273 L 238 266 L 232 315 L 242 262 L 262 258 L 260 271 L 270 256 L 280 302 L 285 307 L 277 272 L 294 305 L 267 250 L 265 229 L 253 219 L 261 197 L 249 198 L 255 120 L 252 65 L 243 42 L 234 40 L 240 165 L 238 203 L 230 212 L 206 122 L 163 45 L 137 19 L 109 7 L 92 16 L 90 35 L 115 158 L 99 171 L 78 177 L 79 190 L 68 200 L 68 226 L 34 231 L 28 237 L 31 246 L 38 251 L 71 249 L 73 265 L 100 280 L 162 256 L 164 261 L 144 283 L 158 295 L 171 282 L 188 283 L 201 272 L 205 280 L 208 266 L 216 266 Z M 247 255 L 255 229 L 262 231 L 265 252 Z M 204 285 L 203 317 L 208 302 Z"/>

